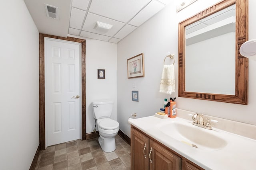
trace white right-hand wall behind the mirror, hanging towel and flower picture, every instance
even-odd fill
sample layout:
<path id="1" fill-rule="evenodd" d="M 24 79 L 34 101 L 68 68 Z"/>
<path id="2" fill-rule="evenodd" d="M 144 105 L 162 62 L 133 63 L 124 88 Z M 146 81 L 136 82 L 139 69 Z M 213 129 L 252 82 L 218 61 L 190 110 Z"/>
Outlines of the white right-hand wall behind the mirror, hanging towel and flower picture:
<path id="1" fill-rule="evenodd" d="M 248 106 L 178 97 L 178 23 L 218 1 L 198 0 L 178 13 L 175 5 L 171 3 L 118 43 L 117 113 L 120 130 L 126 135 L 130 136 L 130 125 L 127 121 L 132 113 L 137 113 L 137 117 L 154 115 L 162 107 L 164 98 L 170 97 L 177 98 L 177 107 L 180 109 L 256 125 L 255 61 L 249 61 Z M 256 2 L 249 0 L 249 39 L 256 39 L 254 8 Z M 174 64 L 176 92 L 172 95 L 158 92 L 163 61 L 168 51 L 175 55 L 176 60 Z M 145 77 L 128 79 L 126 61 L 140 53 L 144 53 L 145 57 Z M 136 88 L 132 87 L 134 82 Z M 131 100 L 132 90 L 139 90 L 140 102 Z"/>

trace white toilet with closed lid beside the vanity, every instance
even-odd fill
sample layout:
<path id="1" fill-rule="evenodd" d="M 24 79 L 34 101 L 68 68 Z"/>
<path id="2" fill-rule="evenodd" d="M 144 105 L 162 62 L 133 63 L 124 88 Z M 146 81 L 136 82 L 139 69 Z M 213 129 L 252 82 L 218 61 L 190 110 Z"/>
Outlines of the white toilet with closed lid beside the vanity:
<path id="1" fill-rule="evenodd" d="M 113 152 L 116 150 L 115 136 L 119 130 L 119 123 L 110 119 L 113 102 L 92 102 L 92 107 L 93 117 L 97 120 L 98 131 L 100 134 L 100 147 L 104 152 Z"/>

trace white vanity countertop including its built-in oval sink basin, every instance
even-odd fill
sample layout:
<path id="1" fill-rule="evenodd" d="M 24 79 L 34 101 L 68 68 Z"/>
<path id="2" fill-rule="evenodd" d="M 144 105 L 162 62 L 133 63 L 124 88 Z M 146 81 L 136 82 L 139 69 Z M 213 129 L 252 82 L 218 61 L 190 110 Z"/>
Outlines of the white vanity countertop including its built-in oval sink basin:
<path id="1" fill-rule="evenodd" d="M 185 113 L 179 110 L 179 114 L 184 117 L 188 117 L 188 114 L 192 112 Z M 222 125 L 226 125 L 226 123 L 232 125 L 234 129 L 243 127 L 240 123 L 233 121 L 217 120 L 219 123 L 223 123 Z M 128 122 L 180 156 L 206 170 L 252 170 L 256 167 L 256 140 L 254 139 L 215 127 L 212 130 L 197 127 L 192 125 L 191 117 L 182 119 L 177 116 L 175 119 L 160 119 L 155 116 L 148 116 L 129 119 Z M 250 125 L 252 131 L 250 133 L 254 133 L 255 128 L 254 125 L 253 127 Z M 238 130 L 244 131 L 246 129 Z M 194 144 L 198 148 L 186 145 L 182 141 Z"/>

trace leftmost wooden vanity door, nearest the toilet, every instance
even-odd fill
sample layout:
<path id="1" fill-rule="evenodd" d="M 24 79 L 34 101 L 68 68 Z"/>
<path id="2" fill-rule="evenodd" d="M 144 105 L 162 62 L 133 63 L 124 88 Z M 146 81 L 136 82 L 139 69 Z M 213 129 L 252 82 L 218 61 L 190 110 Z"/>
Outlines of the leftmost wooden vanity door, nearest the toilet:
<path id="1" fill-rule="evenodd" d="M 149 138 L 131 128 L 131 170 L 148 170 Z"/>

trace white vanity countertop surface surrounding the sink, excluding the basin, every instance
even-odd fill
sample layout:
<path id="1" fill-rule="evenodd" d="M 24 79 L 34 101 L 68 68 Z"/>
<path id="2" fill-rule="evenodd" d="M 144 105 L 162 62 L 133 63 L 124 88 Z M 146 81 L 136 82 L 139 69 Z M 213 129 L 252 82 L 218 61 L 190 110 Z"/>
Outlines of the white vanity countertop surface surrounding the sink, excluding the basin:
<path id="1" fill-rule="evenodd" d="M 188 160 L 194 162 L 206 170 L 256 169 L 256 140 L 242 137 L 240 135 L 222 131 L 216 128 L 213 128 L 213 130 L 205 129 L 206 131 L 215 131 L 220 133 L 221 136 L 228 142 L 228 144 L 222 149 L 213 151 L 194 148 L 164 134 L 158 129 L 160 124 L 169 122 L 171 123 L 172 121 L 186 121 L 192 124 L 192 121 L 188 121 L 180 117 L 176 117 L 174 119 L 160 119 L 155 116 L 149 116 L 128 120 L 131 125 L 134 125 L 147 135 L 166 145 L 166 147 L 174 150 L 178 154 L 184 156 Z M 172 131 L 172 129 L 169 130 Z M 207 136 L 198 137 L 207 138 Z"/>

